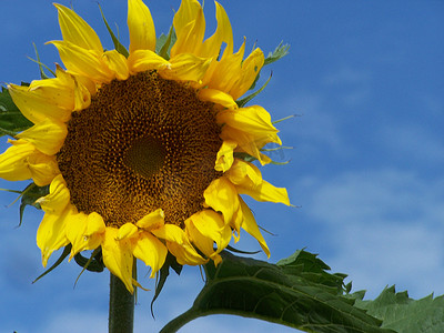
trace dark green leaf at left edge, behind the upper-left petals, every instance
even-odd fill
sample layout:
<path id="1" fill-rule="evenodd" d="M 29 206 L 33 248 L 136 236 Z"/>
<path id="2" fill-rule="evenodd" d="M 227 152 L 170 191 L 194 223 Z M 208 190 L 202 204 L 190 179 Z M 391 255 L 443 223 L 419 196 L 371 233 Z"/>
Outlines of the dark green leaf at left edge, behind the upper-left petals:
<path id="1" fill-rule="evenodd" d="M 0 92 L 0 137 L 14 137 L 18 132 L 32 127 L 32 122 L 21 114 L 9 94 L 8 89 L 1 87 Z"/>

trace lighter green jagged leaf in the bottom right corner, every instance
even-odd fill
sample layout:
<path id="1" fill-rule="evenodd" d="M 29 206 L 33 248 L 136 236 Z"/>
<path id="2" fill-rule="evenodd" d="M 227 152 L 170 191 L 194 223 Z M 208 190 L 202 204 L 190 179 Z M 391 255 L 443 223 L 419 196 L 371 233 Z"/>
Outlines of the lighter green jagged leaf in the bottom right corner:
<path id="1" fill-rule="evenodd" d="M 433 294 L 412 300 L 407 292 L 396 293 L 395 286 L 386 287 L 374 301 L 356 300 L 356 306 L 383 320 L 383 327 L 396 332 L 435 333 L 444 332 L 444 296 Z"/>

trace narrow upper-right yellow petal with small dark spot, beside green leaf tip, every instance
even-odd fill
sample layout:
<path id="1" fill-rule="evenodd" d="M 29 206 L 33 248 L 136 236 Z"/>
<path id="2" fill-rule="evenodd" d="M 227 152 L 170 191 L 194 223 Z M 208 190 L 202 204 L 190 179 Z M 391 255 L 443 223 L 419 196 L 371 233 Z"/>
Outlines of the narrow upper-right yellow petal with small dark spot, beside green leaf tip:
<path id="1" fill-rule="evenodd" d="M 264 64 L 264 54 L 261 49 L 255 49 L 242 63 L 241 75 L 230 90 L 234 100 L 243 95 L 253 84 Z"/>

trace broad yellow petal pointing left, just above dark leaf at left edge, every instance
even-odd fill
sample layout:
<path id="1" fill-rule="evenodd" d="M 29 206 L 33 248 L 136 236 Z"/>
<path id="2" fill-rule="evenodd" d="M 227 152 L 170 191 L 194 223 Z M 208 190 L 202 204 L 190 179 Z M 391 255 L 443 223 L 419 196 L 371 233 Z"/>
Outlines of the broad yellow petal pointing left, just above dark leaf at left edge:
<path id="1" fill-rule="evenodd" d="M 49 79 L 51 80 L 51 79 Z M 67 109 L 64 103 L 58 101 L 58 95 L 48 91 L 48 88 L 30 90 L 29 87 L 9 84 L 8 91 L 20 112 L 33 123 L 42 122 L 46 118 L 56 119 L 62 122 L 71 118 L 72 109 Z M 65 90 L 61 88 L 59 94 Z"/>

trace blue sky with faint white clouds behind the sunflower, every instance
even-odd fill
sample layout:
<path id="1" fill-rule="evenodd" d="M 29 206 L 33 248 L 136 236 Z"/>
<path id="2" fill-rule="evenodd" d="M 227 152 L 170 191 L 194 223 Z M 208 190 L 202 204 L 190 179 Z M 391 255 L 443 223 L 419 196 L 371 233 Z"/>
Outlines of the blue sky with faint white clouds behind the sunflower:
<path id="1" fill-rule="evenodd" d="M 95 1 L 71 1 L 103 44 L 112 43 Z M 290 54 L 265 68 L 273 71 L 254 100 L 279 124 L 293 150 L 275 154 L 284 167 L 262 168 L 264 178 L 286 186 L 287 208 L 249 201 L 258 222 L 275 235 L 266 241 L 271 262 L 306 248 L 333 272 L 347 273 L 354 290 L 376 296 L 396 284 L 413 297 L 444 293 L 444 2 L 442 1 L 220 1 L 239 47 L 243 36 L 268 53 L 283 40 Z M 69 6 L 70 1 L 61 1 Z M 128 46 L 125 1 L 101 1 Z M 158 33 L 168 31 L 179 0 L 147 1 Z M 214 6 L 205 1 L 209 33 Z M 46 41 L 60 39 L 51 1 L 3 1 L 0 11 L 0 82 L 39 78 L 42 61 L 60 62 Z M 0 150 L 7 148 L 0 138 Z M 0 188 L 23 183 L 0 180 Z M 107 273 L 84 273 L 63 263 L 36 284 L 42 271 L 36 245 L 41 212 L 28 210 L 18 225 L 14 195 L 0 192 L 0 332 L 105 332 Z M 240 246 L 259 246 L 244 238 Z M 57 255 L 57 254 L 56 254 Z M 258 256 L 265 260 L 265 255 Z M 143 276 L 144 268 L 140 266 Z M 153 281 L 141 278 L 153 287 Z M 157 332 L 186 310 L 203 282 L 198 268 L 172 276 L 150 315 L 152 292 L 140 292 L 135 332 Z M 293 332 L 233 316 L 209 316 L 180 332 Z"/>

